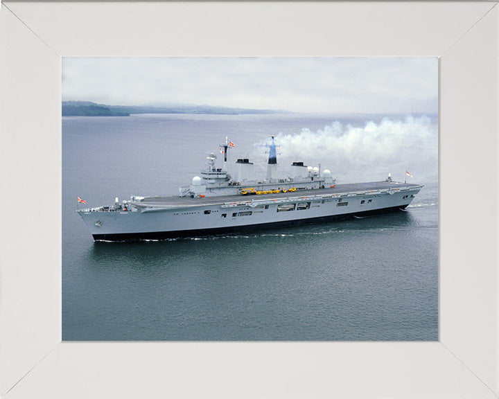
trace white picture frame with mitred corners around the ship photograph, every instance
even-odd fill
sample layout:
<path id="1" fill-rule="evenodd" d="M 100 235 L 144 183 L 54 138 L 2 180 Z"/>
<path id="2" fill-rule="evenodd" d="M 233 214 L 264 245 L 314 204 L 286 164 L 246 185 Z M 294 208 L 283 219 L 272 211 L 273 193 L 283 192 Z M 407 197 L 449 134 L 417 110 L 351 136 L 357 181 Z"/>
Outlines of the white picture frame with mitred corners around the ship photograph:
<path id="1" fill-rule="evenodd" d="M 0 395 L 496 398 L 497 1 L 0 10 Z M 61 57 L 439 57 L 439 342 L 61 342 Z M 28 250 L 27 250 L 28 249 Z"/>

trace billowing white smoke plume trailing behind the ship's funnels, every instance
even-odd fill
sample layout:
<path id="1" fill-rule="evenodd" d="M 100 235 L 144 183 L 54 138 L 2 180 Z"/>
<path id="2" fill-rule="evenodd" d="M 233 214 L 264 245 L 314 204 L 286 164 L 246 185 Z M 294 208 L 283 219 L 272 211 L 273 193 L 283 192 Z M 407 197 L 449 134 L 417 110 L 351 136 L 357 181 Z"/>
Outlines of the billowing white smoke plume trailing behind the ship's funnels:
<path id="1" fill-rule="evenodd" d="M 304 161 L 307 166 L 320 162 L 322 170 L 331 170 L 342 182 L 381 180 L 390 172 L 403 181 L 406 169 L 414 176 L 408 182 L 438 179 L 438 128 L 428 116 L 385 118 L 363 126 L 335 122 L 317 132 L 279 133 L 275 141 L 281 146 L 278 163 L 284 174 L 292 161 Z M 255 145 L 259 154 L 262 144 Z"/>

